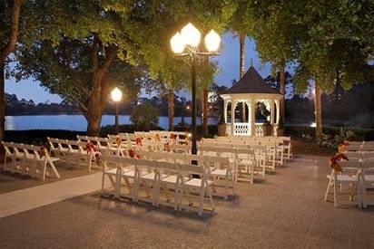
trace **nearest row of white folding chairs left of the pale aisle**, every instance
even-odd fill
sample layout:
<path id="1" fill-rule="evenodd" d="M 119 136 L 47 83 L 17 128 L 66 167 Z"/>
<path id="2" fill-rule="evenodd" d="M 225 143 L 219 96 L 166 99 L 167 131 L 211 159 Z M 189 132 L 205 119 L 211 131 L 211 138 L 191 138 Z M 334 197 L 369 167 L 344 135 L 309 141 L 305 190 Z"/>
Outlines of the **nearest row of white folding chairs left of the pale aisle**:
<path id="1" fill-rule="evenodd" d="M 54 162 L 59 158 L 50 157 L 44 147 L 4 141 L 2 141 L 2 145 L 5 148 L 4 171 L 42 180 L 45 177 L 60 177 L 54 167 Z M 8 158 L 11 160 L 10 164 L 7 163 Z"/>

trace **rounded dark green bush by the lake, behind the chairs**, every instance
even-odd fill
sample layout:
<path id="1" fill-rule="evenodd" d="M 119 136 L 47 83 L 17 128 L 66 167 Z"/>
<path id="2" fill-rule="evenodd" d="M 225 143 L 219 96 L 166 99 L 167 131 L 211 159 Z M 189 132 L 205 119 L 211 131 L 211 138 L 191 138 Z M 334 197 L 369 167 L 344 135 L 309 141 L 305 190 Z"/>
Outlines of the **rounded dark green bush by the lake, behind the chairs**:
<path id="1" fill-rule="evenodd" d="M 130 120 L 136 129 L 155 129 L 159 122 L 159 111 L 149 103 L 139 104 L 133 108 Z"/>

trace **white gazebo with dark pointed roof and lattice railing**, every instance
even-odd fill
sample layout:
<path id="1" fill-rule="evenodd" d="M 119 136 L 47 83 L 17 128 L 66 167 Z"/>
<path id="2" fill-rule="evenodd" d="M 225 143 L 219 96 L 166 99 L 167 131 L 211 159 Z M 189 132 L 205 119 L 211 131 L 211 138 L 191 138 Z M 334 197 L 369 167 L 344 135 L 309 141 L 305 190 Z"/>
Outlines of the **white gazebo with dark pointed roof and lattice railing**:
<path id="1" fill-rule="evenodd" d="M 221 97 L 226 135 L 263 136 L 266 135 L 264 123 L 271 127 L 271 135 L 277 135 L 282 94 L 265 82 L 254 67 L 251 66 Z M 241 107 L 245 107 L 245 111 Z M 256 112 L 265 114 L 256 117 Z"/>

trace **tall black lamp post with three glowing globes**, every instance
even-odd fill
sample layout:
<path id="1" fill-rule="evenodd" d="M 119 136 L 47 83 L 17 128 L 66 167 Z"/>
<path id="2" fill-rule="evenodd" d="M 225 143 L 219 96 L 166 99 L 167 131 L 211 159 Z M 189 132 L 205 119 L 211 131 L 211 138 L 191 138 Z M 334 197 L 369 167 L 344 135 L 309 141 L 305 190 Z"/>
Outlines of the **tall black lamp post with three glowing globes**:
<path id="1" fill-rule="evenodd" d="M 221 37 L 215 31 L 211 30 L 204 38 L 207 52 L 198 49 L 202 34 L 191 23 L 185 25 L 181 32 L 174 34 L 170 40 L 172 52 L 178 56 L 187 57 L 191 60 L 191 84 L 192 84 L 192 101 L 191 101 L 191 133 L 192 133 L 192 154 L 197 154 L 196 145 L 196 61 L 199 56 L 217 55 L 220 47 Z"/>

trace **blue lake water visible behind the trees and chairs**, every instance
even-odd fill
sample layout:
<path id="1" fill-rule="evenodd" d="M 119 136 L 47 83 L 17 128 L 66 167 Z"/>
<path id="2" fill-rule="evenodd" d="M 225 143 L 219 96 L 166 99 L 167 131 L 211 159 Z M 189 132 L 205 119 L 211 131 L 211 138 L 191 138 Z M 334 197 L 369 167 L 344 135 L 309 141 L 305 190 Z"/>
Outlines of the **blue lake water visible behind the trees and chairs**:
<path id="1" fill-rule="evenodd" d="M 131 124 L 129 115 L 119 116 L 120 124 Z M 182 120 L 181 117 L 174 118 L 174 124 L 178 124 Z M 191 123 L 191 118 L 184 119 L 186 123 Z M 217 124 L 217 118 L 209 118 L 209 124 Z M 197 123 L 201 124 L 202 120 L 197 118 Z M 102 126 L 113 125 L 114 115 L 103 115 Z M 159 126 L 162 129 L 169 128 L 168 117 L 159 118 Z M 33 116 L 6 116 L 5 129 L 22 130 L 22 129 L 68 129 L 85 131 L 87 129 L 87 121 L 83 115 L 33 115 Z"/>

